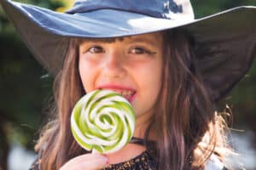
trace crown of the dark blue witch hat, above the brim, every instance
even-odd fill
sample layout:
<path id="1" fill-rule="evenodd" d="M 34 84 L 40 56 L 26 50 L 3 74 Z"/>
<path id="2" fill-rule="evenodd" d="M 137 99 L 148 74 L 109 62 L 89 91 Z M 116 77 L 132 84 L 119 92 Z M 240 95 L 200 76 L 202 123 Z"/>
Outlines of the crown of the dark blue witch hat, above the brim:
<path id="1" fill-rule="evenodd" d="M 171 20 L 184 17 L 194 19 L 189 0 L 77 0 L 67 13 L 85 13 L 98 9 L 124 10 Z"/>

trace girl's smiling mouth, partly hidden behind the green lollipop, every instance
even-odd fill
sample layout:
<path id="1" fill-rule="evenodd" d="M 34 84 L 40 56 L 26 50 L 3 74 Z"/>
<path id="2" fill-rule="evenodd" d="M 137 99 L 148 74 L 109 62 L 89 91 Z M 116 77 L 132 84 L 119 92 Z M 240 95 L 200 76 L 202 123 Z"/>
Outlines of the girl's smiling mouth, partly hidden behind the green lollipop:
<path id="1" fill-rule="evenodd" d="M 136 90 L 133 88 L 128 88 L 122 85 L 113 85 L 113 84 L 107 84 L 98 86 L 97 89 L 105 89 L 105 90 L 111 90 L 113 92 L 116 92 L 118 94 L 121 94 L 125 99 L 127 99 L 130 103 L 135 99 L 136 96 Z"/>

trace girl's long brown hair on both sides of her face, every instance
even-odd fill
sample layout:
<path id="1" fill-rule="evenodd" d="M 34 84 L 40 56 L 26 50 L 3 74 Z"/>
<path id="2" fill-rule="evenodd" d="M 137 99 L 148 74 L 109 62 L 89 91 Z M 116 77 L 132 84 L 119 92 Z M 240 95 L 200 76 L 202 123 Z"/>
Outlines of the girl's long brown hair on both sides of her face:
<path id="1" fill-rule="evenodd" d="M 214 114 L 212 100 L 195 68 L 195 52 L 188 36 L 173 30 L 164 32 L 163 37 L 164 81 L 157 112 L 149 123 L 145 139 L 154 126 L 158 132 L 159 169 L 199 169 L 213 152 L 223 156 L 216 148 L 227 148 L 224 123 Z M 86 152 L 73 139 L 70 130 L 73 105 L 84 95 L 78 69 L 78 44 L 77 39 L 70 40 L 63 69 L 54 83 L 56 116 L 44 127 L 36 145 L 43 170 L 59 169 L 72 157 Z M 208 137 L 207 142 L 204 136 Z"/>

